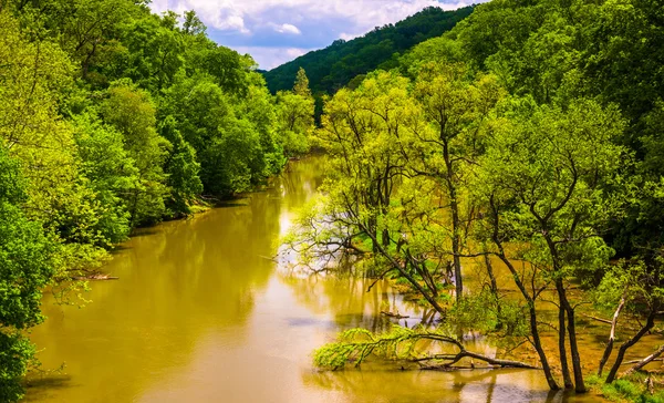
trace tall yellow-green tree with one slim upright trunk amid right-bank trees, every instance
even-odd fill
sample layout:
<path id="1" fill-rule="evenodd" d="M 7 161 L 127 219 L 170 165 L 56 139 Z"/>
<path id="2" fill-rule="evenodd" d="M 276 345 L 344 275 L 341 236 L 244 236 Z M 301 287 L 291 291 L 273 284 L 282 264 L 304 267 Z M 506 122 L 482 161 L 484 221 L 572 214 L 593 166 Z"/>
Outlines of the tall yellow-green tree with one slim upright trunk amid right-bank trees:
<path id="1" fill-rule="evenodd" d="M 463 64 L 428 63 L 418 70 L 414 96 L 422 104 L 429 131 L 415 132 L 411 161 L 416 175 L 430 176 L 448 203 L 452 217 L 452 259 L 457 300 L 463 298 L 463 234 L 473 207 L 461 206 L 469 172 L 484 152 L 483 121 L 504 96 L 492 76 L 466 79 Z"/>

